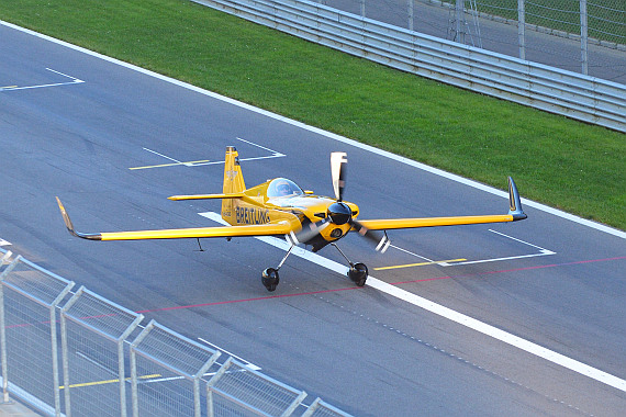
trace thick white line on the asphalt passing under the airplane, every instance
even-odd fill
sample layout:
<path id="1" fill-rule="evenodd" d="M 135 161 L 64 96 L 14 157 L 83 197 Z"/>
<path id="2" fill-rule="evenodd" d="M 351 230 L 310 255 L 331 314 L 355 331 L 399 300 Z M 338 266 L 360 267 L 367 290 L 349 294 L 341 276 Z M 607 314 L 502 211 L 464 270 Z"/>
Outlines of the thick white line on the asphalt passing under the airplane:
<path id="1" fill-rule="evenodd" d="M 205 212 L 205 213 L 198 213 L 198 214 L 200 214 L 201 216 L 204 216 L 206 218 L 210 218 L 214 222 L 227 225 L 227 223 L 224 222 L 224 219 L 222 219 L 222 217 L 217 213 Z M 289 244 L 287 244 L 287 241 L 278 239 L 276 237 L 264 236 L 264 237 L 257 237 L 256 239 L 265 241 L 268 245 L 275 246 L 275 247 L 283 249 L 283 250 L 289 249 Z M 316 263 L 321 267 L 327 268 L 327 269 L 335 271 L 335 272 L 343 274 L 343 275 L 345 275 L 348 272 L 348 267 L 345 267 L 345 266 L 337 263 L 333 260 L 321 257 L 317 253 L 313 253 L 313 252 L 310 252 L 308 250 L 304 250 L 303 248 L 300 248 L 300 249 L 302 249 L 302 250 L 292 251 L 292 255 L 295 255 L 297 257 L 300 257 L 302 259 L 306 259 L 313 263 Z M 582 363 L 582 362 L 579 362 L 574 359 L 568 358 L 561 353 L 557 353 L 554 350 L 550 350 L 550 349 L 544 348 L 539 345 L 533 343 L 532 341 L 522 339 L 521 337 L 517 337 L 515 335 L 512 335 L 510 333 L 501 330 L 501 329 L 493 327 L 491 325 L 488 325 L 485 323 L 479 322 L 476 318 L 467 316 L 462 313 L 458 313 L 454 309 L 450 309 L 448 307 L 445 307 L 443 305 L 434 303 L 429 300 L 426 300 L 424 297 L 415 295 L 409 291 L 405 291 L 405 290 L 399 289 L 394 285 L 388 284 L 387 282 L 380 281 L 380 280 L 378 280 L 371 275 L 369 275 L 369 278 L 367 279 L 367 285 L 371 286 L 372 289 L 379 290 L 385 294 L 394 296 L 399 300 L 402 300 L 402 301 L 405 301 L 410 304 L 413 304 L 417 307 L 424 308 L 424 309 L 426 309 L 431 313 L 434 313 L 440 317 L 447 318 L 447 319 L 452 320 L 455 323 L 458 323 L 462 326 L 469 327 L 476 331 L 479 331 L 483 335 L 490 336 L 490 337 L 498 339 L 500 341 L 503 341 L 507 345 L 514 346 L 514 347 L 522 349 L 528 353 L 535 354 L 535 356 L 543 358 L 547 361 L 550 361 L 552 363 L 556 363 L 558 365 L 567 368 L 571 371 L 580 373 L 581 375 L 589 376 L 592 380 L 602 382 L 603 384 L 606 384 L 606 385 L 613 386 L 614 388 L 617 388 L 619 391 L 626 392 L 626 380 L 622 380 L 622 379 L 619 379 L 615 375 L 612 375 L 607 372 L 592 368 L 585 363 Z"/>

